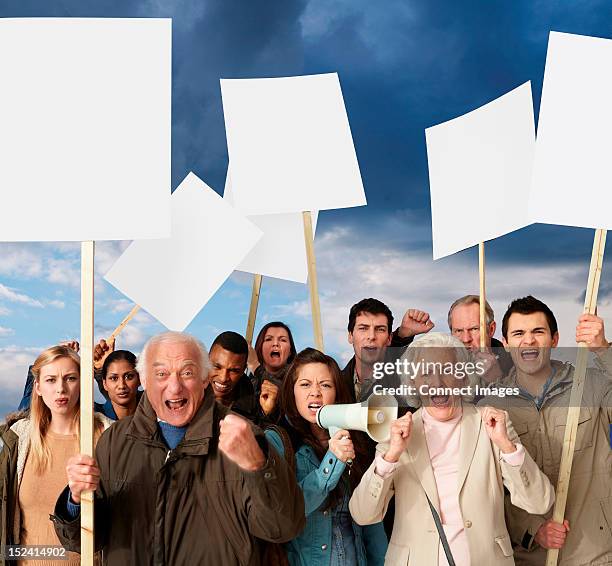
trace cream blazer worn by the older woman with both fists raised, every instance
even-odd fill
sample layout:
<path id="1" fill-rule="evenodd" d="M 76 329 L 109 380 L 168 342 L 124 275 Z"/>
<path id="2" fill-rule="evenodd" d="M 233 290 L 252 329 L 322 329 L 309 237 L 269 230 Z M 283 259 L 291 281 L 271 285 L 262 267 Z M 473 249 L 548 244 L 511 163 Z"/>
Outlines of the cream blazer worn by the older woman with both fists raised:
<path id="1" fill-rule="evenodd" d="M 353 492 L 350 510 L 362 525 L 382 521 L 395 494 L 395 522 L 385 564 L 436 566 L 440 537 L 427 496 L 440 512 L 435 478 L 419 409 L 414 414 L 408 448 L 399 465 L 385 479 L 375 472 L 374 462 Z M 508 422 L 508 434 L 517 435 Z M 379 444 L 383 453 L 387 444 Z M 516 505 L 532 513 L 546 512 L 554 501 L 554 490 L 526 453 L 522 466 L 503 461 L 489 439 L 479 410 L 464 405 L 459 447 L 459 505 L 463 514 L 472 564 L 497 566 L 514 564 L 512 545 L 504 522 L 504 485 Z"/>

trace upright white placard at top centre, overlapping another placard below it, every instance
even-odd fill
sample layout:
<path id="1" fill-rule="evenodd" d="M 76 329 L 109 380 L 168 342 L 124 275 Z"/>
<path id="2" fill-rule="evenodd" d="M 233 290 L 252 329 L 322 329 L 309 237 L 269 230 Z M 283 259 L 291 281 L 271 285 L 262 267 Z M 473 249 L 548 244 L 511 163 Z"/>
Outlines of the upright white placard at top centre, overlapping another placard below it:
<path id="1" fill-rule="evenodd" d="M 277 214 L 366 204 L 336 73 L 222 79 L 236 206 Z"/>

